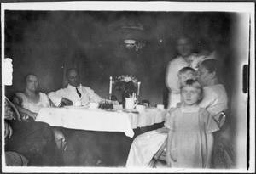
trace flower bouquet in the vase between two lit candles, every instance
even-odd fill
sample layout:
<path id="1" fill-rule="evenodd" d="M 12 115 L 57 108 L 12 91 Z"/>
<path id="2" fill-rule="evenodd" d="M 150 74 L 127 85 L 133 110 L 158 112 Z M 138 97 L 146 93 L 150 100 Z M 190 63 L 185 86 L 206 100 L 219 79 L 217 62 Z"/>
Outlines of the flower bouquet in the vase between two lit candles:
<path id="1" fill-rule="evenodd" d="M 137 92 L 137 79 L 134 76 L 121 75 L 113 79 L 113 85 L 122 93 L 122 104 L 125 108 L 125 98 L 130 98 L 132 93 Z"/>

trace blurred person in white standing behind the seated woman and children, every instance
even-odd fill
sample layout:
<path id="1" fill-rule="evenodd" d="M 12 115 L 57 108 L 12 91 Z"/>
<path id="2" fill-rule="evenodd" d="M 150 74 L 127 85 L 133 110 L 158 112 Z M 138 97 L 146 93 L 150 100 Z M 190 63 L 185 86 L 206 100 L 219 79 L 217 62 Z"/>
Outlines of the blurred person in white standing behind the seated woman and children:
<path id="1" fill-rule="evenodd" d="M 168 108 L 176 107 L 180 102 L 179 82 L 177 72 L 183 67 L 190 66 L 196 68 L 199 61 L 194 53 L 191 53 L 192 44 L 188 37 L 182 36 L 177 40 L 177 58 L 172 59 L 166 69 L 166 87 L 169 89 Z"/>

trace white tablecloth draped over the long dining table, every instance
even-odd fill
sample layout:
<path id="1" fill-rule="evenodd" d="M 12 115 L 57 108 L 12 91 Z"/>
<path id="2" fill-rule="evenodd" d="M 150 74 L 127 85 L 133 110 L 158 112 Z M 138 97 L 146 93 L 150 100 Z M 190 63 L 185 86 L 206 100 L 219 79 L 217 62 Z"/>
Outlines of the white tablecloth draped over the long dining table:
<path id="1" fill-rule="evenodd" d="M 164 121 L 166 111 L 146 109 L 140 114 L 113 112 L 102 109 L 84 108 L 42 108 L 36 121 L 43 121 L 50 126 L 61 126 L 71 129 L 81 129 L 102 132 L 125 132 L 133 137 L 133 128 L 149 126 Z"/>

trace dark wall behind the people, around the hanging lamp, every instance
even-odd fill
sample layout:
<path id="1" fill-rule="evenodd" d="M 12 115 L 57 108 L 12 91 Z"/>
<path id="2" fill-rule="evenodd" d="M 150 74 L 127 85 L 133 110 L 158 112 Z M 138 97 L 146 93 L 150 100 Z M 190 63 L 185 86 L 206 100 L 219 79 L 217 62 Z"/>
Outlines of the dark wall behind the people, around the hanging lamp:
<path id="1" fill-rule="evenodd" d="M 232 15 L 7 10 L 5 56 L 13 59 L 14 80 L 6 94 L 23 90 L 21 82 L 28 72 L 38 75 L 41 91 L 55 91 L 66 84 L 65 70 L 78 67 L 82 83 L 103 98 L 108 97 L 109 76 L 128 74 L 142 81 L 141 99 L 162 104 L 166 64 L 177 56 L 177 36 L 191 36 L 195 52 L 200 51 L 201 41 L 207 41 L 208 48 L 218 50 L 228 64 Z M 127 34 L 119 31 L 121 25 L 134 21 L 141 22 L 145 31 L 131 36 L 147 42 L 137 52 L 122 47 Z"/>

